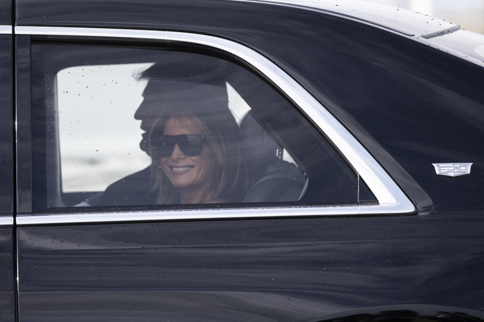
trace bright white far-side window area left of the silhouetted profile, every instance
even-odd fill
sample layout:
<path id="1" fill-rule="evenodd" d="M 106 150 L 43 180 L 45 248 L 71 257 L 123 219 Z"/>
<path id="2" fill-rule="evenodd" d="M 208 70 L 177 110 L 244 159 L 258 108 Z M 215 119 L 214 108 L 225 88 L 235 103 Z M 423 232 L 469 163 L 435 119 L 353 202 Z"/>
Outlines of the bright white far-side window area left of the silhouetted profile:
<path id="1" fill-rule="evenodd" d="M 74 66 L 57 73 L 64 192 L 102 191 L 150 164 L 137 144 L 140 121 L 126 117 L 143 100 L 146 82 L 136 71 L 150 65 Z"/>

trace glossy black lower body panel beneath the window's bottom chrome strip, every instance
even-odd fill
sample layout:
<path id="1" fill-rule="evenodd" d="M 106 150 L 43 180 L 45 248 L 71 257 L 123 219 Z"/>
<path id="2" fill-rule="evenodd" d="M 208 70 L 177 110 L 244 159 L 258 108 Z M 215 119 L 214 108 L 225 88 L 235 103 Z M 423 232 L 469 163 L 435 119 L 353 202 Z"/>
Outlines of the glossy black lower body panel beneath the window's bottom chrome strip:
<path id="1" fill-rule="evenodd" d="M 451 213 L 23 227 L 20 320 L 308 321 L 408 303 L 482 311 L 483 228 Z"/>

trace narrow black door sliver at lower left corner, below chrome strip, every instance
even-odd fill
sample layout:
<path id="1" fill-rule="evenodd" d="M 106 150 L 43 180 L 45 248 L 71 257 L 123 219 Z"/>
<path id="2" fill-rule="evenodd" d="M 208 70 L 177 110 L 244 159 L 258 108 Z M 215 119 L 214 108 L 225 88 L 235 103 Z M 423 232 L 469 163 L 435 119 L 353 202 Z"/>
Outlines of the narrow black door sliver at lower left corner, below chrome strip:
<path id="1" fill-rule="evenodd" d="M 0 228 L 0 321 L 15 321 L 12 227 Z"/>

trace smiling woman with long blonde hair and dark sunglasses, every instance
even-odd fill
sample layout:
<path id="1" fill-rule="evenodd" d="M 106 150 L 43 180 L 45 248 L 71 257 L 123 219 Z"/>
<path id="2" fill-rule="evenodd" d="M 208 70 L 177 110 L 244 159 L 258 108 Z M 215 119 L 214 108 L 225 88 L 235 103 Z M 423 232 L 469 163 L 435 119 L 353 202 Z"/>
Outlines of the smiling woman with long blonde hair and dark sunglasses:
<path id="1" fill-rule="evenodd" d="M 236 129 L 235 121 L 233 124 Z M 201 132 L 205 134 L 190 134 Z M 205 137 L 210 141 L 207 144 L 204 144 Z M 170 116 L 161 139 L 165 148 L 171 146 L 172 152 L 165 157 L 153 157 L 152 172 L 159 189 L 157 203 L 240 201 L 237 198 L 241 199 L 245 193 L 247 181 L 244 182 L 244 178 L 247 176 L 245 164 L 240 162 L 238 142 L 220 146 L 217 142 L 220 140 L 210 128 L 200 118 L 189 114 Z M 223 146 L 236 152 L 233 159 L 238 159 L 238 163 L 230 165 L 234 169 L 226 169 L 227 160 L 223 156 L 227 151 L 222 151 Z"/>

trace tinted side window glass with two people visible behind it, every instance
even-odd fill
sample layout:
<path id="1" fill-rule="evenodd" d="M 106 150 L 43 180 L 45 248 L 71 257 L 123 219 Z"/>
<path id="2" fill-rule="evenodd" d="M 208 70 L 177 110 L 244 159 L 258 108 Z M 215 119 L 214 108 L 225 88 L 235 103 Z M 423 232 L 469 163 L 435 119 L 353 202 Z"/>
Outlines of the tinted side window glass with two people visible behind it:
<path id="1" fill-rule="evenodd" d="M 375 202 L 270 84 L 189 48 L 33 44 L 32 155 L 34 211 Z"/>

